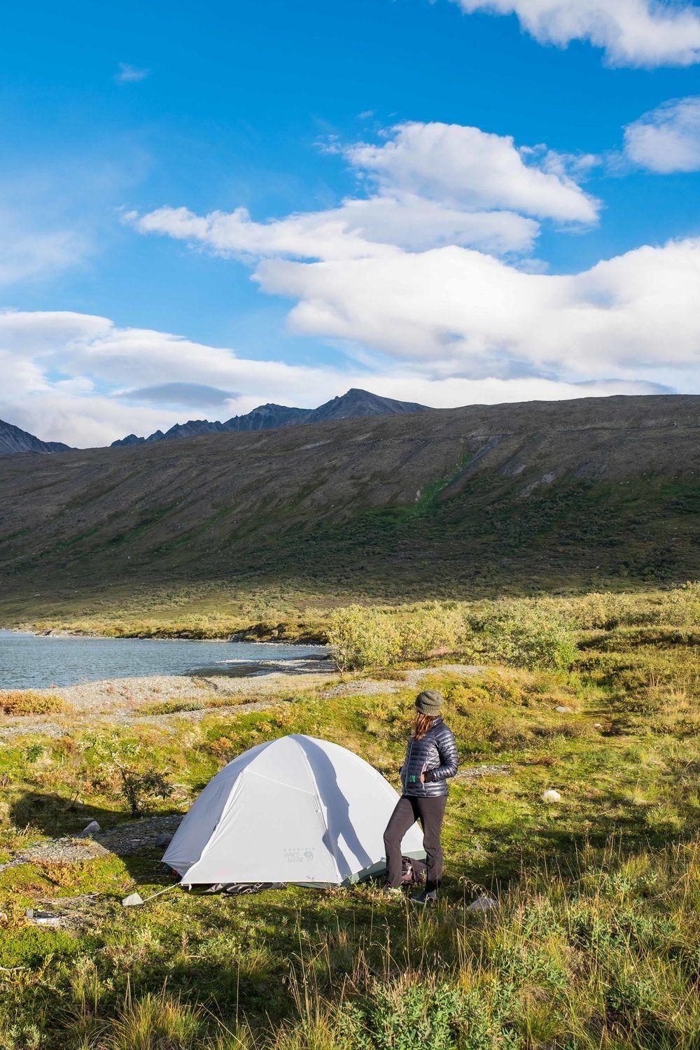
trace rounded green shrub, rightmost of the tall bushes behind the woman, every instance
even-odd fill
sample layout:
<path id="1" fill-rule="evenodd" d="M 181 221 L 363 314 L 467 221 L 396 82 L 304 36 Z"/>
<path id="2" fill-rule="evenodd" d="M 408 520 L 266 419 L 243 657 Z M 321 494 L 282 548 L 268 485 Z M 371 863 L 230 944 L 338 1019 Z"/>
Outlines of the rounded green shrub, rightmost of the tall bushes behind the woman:
<path id="1" fill-rule="evenodd" d="M 568 670 L 576 644 L 561 616 L 536 605 L 513 603 L 510 611 L 486 624 L 483 654 L 528 671 Z"/>

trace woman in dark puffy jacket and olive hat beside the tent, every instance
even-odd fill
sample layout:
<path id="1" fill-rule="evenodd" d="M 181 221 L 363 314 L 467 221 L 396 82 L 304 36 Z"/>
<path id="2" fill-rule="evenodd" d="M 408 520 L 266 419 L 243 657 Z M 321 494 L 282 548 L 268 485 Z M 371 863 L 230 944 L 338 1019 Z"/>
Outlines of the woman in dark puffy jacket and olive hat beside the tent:
<path id="1" fill-rule="evenodd" d="M 423 828 L 427 854 L 425 889 L 413 900 L 434 901 L 442 878 L 443 852 L 440 842 L 445 805 L 446 781 L 457 773 L 458 754 L 451 730 L 440 715 L 443 696 L 427 689 L 416 697 L 416 718 L 401 766 L 403 793 L 384 832 L 387 894 L 400 892 L 401 840 L 417 820 Z"/>

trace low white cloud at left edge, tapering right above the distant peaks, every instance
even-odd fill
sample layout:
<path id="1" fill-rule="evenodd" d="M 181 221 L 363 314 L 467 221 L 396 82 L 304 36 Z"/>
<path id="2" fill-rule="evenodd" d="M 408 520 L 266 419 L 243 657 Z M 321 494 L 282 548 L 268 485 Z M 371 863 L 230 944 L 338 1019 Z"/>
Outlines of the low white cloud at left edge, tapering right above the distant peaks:
<path id="1" fill-rule="evenodd" d="M 218 404 L 228 417 L 268 400 L 306 405 L 312 391 L 323 400 L 349 385 L 340 371 L 249 360 L 171 333 L 121 329 L 105 317 L 69 312 L 0 311 L 0 369 L 7 380 L 0 418 L 76 445 L 108 444 L 132 430 L 150 434 L 182 422 L 183 405 L 176 407 L 174 397 L 164 404 L 164 386 L 177 385 L 181 395 L 197 387 L 199 397 L 203 387 L 227 395 Z"/>

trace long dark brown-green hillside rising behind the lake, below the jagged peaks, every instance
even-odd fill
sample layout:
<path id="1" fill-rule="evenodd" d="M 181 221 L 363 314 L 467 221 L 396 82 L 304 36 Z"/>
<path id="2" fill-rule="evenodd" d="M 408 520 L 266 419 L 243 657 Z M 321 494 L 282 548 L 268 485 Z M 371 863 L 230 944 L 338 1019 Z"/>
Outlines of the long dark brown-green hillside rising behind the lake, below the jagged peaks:
<path id="1" fill-rule="evenodd" d="M 356 597 L 696 579 L 698 404 L 473 406 L 9 457 L 0 622 L 121 610 L 187 627 L 213 610 L 246 626 L 267 605 L 292 624 Z"/>

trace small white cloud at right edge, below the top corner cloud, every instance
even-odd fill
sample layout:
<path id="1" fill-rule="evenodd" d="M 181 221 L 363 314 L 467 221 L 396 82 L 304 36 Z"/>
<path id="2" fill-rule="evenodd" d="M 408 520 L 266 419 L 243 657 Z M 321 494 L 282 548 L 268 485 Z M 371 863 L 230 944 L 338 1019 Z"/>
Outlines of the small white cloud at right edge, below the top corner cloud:
<path id="1" fill-rule="evenodd" d="M 700 96 L 665 102 L 628 124 L 624 153 L 662 174 L 700 170 Z"/>

